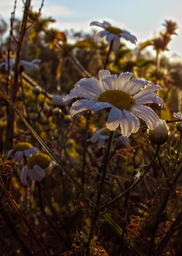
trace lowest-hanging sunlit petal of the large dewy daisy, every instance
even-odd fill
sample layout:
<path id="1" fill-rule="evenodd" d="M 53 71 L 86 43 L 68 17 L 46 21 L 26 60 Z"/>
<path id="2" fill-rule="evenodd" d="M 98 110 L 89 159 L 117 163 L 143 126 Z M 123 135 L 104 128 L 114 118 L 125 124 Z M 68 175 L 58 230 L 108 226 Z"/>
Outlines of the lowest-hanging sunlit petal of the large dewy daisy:
<path id="1" fill-rule="evenodd" d="M 128 110 L 122 110 L 122 120 L 120 121 L 121 132 L 123 136 L 129 137 L 133 132 L 137 132 L 139 128 L 139 120 Z"/>

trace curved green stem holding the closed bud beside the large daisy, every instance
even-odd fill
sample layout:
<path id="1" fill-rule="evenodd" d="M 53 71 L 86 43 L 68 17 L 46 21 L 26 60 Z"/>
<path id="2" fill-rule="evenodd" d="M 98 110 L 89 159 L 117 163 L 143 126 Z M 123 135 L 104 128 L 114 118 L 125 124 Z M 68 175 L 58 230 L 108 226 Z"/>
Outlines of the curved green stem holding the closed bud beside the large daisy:
<path id="1" fill-rule="evenodd" d="M 125 196 L 129 191 L 131 191 L 133 188 L 136 187 L 136 185 L 145 177 L 145 175 L 148 173 L 150 167 L 153 165 L 157 154 L 159 153 L 161 145 L 157 145 L 155 154 L 153 155 L 153 158 L 151 160 L 151 162 L 149 163 L 149 165 L 147 166 L 146 170 L 141 174 L 141 176 L 137 179 L 137 181 L 131 185 L 125 192 L 121 193 L 118 197 L 116 197 L 114 200 L 112 200 L 111 202 L 109 202 L 108 204 L 104 205 L 102 207 L 102 209 L 105 209 L 106 207 L 109 207 L 110 205 L 112 205 L 113 203 L 115 203 L 117 200 L 119 200 L 120 198 L 122 198 L 123 196 Z"/>

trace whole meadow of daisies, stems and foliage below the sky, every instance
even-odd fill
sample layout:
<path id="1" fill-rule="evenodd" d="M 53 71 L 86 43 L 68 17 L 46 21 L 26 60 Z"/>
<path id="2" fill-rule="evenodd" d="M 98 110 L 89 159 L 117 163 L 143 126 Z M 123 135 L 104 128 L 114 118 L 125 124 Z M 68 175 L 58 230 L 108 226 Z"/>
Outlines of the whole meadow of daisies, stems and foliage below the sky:
<path id="1" fill-rule="evenodd" d="M 181 255 L 182 65 L 107 21 L 68 44 L 43 2 L 1 46 L 1 255 Z"/>

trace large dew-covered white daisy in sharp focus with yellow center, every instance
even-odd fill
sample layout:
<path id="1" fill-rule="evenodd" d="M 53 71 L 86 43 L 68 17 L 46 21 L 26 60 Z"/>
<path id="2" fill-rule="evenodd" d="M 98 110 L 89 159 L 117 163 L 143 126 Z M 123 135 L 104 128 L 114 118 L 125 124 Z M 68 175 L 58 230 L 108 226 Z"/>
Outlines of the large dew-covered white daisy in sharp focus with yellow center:
<path id="1" fill-rule="evenodd" d="M 145 103 L 157 103 L 163 106 L 163 100 L 153 91 L 161 89 L 159 85 L 142 79 L 131 79 L 132 73 L 125 72 L 119 75 L 111 75 L 108 70 L 99 72 L 99 80 L 96 78 L 83 78 L 75 84 L 63 101 L 72 98 L 83 97 L 73 103 L 70 113 L 72 117 L 86 109 L 97 112 L 101 109 L 110 109 L 106 126 L 114 131 L 120 124 L 123 136 L 129 136 L 137 132 L 141 117 L 153 130 L 159 117 Z M 146 85 L 150 85 L 146 87 Z M 142 89 L 143 87 L 146 87 Z"/>

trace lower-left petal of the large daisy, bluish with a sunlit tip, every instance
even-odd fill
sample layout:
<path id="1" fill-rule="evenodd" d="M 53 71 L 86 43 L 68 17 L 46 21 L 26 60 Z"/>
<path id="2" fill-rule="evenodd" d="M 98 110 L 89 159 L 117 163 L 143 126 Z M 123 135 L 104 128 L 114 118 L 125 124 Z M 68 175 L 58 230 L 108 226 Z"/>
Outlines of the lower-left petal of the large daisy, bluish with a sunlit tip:
<path id="1" fill-rule="evenodd" d="M 92 110 L 92 107 L 94 104 L 95 104 L 95 101 L 91 101 L 91 100 L 78 100 L 74 102 L 70 109 L 71 116 L 73 117 L 75 114 L 83 110 L 87 110 L 87 109 Z"/>

